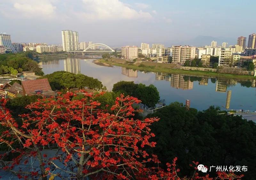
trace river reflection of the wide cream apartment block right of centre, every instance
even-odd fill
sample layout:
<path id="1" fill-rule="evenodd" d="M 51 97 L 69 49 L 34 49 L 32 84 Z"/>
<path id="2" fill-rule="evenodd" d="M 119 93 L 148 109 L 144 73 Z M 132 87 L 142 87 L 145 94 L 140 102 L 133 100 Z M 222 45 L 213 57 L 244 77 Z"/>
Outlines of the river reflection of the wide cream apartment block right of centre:
<path id="1" fill-rule="evenodd" d="M 192 90 L 193 89 L 193 82 L 190 80 L 185 81 L 183 75 L 179 74 L 172 74 L 171 76 L 171 87 L 183 90 Z"/>

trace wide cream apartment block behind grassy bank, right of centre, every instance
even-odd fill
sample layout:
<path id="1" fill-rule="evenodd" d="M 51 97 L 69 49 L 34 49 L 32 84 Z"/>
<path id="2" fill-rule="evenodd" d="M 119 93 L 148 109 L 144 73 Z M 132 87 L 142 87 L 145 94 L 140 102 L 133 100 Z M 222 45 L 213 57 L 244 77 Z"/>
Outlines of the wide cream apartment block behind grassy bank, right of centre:
<path id="1" fill-rule="evenodd" d="M 186 60 L 196 57 L 196 47 L 172 46 L 172 63 L 184 64 Z"/>

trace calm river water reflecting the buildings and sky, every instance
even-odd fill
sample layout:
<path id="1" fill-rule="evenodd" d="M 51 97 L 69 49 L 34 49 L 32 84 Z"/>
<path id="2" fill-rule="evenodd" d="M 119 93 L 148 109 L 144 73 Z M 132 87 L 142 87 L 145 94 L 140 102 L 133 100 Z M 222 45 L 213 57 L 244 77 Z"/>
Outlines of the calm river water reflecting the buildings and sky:
<path id="1" fill-rule="evenodd" d="M 97 58 L 97 57 L 92 57 Z M 210 105 L 221 109 L 244 109 L 256 111 L 255 80 L 234 80 L 225 78 L 196 77 L 184 74 L 141 72 L 122 67 L 105 67 L 94 64 L 94 59 L 47 58 L 40 61 L 44 74 L 55 71 L 82 73 L 99 79 L 108 90 L 118 81 L 134 81 L 146 85 L 154 84 L 160 99 L 166 104 L 178 101 L 185 104 L 190 99 L 190 107 L 198 110 Z M 231 93 L 231 96 L 230 96 Z"/>

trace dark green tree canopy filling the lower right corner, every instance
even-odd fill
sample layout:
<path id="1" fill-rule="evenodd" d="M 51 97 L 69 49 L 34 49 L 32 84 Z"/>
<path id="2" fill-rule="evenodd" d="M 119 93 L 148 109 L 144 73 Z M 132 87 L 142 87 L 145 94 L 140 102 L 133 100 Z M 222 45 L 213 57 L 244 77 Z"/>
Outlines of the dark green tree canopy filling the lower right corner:
<path id="1" fill-rule="evenodd" d="M 177 162 L 183 175 L 193 173 L 184 164 L 194 159 L 208 167 L 248 166 L 246 179 L 255 178 L 256 124 L 239 116 L 219 115 L 218 111 L 213 106 L 202 112 L 187 110 L 178 102 L 159 109 L 148 116 L 160 118 L 151 127 L 157 144 L 149 152 L 158 155 L 162 165 L 180 157 Z"/>

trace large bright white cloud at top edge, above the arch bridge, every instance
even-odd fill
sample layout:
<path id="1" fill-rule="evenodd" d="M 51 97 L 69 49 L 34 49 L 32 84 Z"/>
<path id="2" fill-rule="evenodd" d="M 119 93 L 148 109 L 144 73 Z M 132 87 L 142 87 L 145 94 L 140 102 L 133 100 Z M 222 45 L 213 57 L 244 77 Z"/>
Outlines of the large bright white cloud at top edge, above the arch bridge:
<path id="1" fill-rule="evenodd" d="M 151 18 L 149 12 L 136 11 L 119 0 L 83 0 L 84 12 L 78 15 L 86 20 Z"/>

